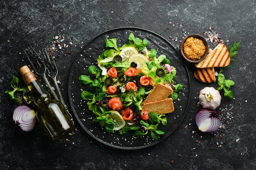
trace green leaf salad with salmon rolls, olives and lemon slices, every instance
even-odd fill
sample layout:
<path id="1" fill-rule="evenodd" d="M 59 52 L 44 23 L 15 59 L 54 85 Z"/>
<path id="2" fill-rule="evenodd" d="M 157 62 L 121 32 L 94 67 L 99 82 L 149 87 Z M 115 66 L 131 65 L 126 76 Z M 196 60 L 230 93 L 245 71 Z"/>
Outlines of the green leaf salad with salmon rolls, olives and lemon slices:
<path id="1" fill-rule="evenodd" d="M 87 105 L 105 131 L 120 134 L 133 131 L 137 138 L 151 132 L 155 140 L 164 132 L 157 130 L 161 123 L 166 126 L 166 115 L 143 111 L 141 103 L 162 83 L 173 89 L 170 97 L 177 99 L 182 85 L 174 85 L 176 69 L 169 59 L 157 51 L 147 49 L 146 39 L 135 38 L 131 33 L 128 44 L 117 47 L 116 38 L 106 39 L 106 48 L 97 58 L 97 66 L 90 65 L 88 74 L 81 75 L 79 82 L 89 85 L 90 91 L 82 91 L 81 97 L 88 100 Z"/>

